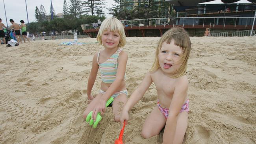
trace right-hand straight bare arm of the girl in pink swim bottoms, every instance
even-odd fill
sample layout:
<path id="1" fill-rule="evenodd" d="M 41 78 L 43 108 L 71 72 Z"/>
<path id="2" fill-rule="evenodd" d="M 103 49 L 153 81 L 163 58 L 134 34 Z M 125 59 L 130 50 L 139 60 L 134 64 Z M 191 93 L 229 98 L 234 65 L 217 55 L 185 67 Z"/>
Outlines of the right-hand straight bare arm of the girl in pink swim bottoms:
<path id="1" fill-rule="evenodd" d="M 164 144 L 173 144 L 178 114 L 180 113 L 180 109 L 186 99 L 187 89 L 187 79 L 179 79 L 174 87 L 174 94 L 169 107 L 169 115 L 166 121 L 165 131 L 163 133 Z"/>

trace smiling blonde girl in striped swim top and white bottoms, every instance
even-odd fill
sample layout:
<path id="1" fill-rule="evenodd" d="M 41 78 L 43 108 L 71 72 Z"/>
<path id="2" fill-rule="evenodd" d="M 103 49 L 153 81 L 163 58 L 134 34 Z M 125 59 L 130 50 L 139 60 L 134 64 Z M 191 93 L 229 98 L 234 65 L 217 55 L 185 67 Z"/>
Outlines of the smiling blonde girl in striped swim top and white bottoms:
<path id="1" fill-rule="evenodd" d="M 90 102 L 83 113 L 83 118 L 93 111 L 92 118 L 95 121 L 97 113 L 104 113 L 106 102 L 110 97 L 114 98 L 114 120 L 119 122 L 121 103 L 126 103 L 128 92 L 124 81 L 128 55 L 119 47 L 126 44 L 124 27 L 117 18 L 106 18 L 98 31 L 97 41 L 104 46 L 104 50 L 93 56 L 91 73 L 87 83 L 87 96 Z M 94 98 L 91 95 L 98 69 L 101 74 L 100 92 Z M 120 103 L 121 102 L 121 103 Z"/>

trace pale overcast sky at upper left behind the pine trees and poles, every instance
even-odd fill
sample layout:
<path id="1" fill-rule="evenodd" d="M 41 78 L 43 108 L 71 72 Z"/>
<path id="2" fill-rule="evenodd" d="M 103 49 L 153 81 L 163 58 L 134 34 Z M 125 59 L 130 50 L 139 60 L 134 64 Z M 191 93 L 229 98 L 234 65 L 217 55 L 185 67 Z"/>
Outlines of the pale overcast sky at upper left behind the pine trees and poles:
<path id="1" fill-rule="evenodd" d="M 83 0 L 82 0 L 83 1 Z M 25 23 L 35 22 L 35 7 L 37 6 L 40 9 L 41 4 L 45 7 L 46 14 L 50 13 L 51 0 L 26 0 L 27 9 L 28 9 L 28 19 L 26 13 L 26 3 L 25 0 L 1 0 L 0 1 L 0 18 L 2 19 L 2 23 L 6 24 L 6 17 L 8 26 L 11 25 L 9 19 L 13 19 L 16 23 L 20 24 L 20 20 L 24 20 Z M 54 8 L 55 13 L 63 12 L 63 2 L 64 0 L 52 0 L 52 6 Z M 70 0 L 66 0 L 67 4 L 69 4 Z M 111 4 L 114 4 L 113 0 L 105 0 L 106 6 L 111 7 Z M 6 16 L 4 12 L 4 4 L 6 7 Z M 108 15 L 108 10 L 105 9 L 106 17 L 111 17 Z"/>

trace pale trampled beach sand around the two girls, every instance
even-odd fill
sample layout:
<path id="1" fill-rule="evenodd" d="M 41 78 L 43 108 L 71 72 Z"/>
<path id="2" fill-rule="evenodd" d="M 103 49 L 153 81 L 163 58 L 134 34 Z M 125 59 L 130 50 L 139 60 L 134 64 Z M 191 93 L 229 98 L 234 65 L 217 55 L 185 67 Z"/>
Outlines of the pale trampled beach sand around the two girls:
<path id="1" fill-rule="evenodd" d="M 152 66 L 159 37 L 128 37 L 126 86 L 130 94 Z M 189 124 L 186 144 L 256 143 L 256 37 L 191 37 L 187 66 Z M 96 39 L 60 46 L 65 40 L 0 45 L 1 144 L 113 144 L 121 126 L 111 107 L 93 129 L 83 121 L 87 79 Z M 100 77 L 93 95 L 98 94 Z M 126 144 L 158 144 L 141 128 L 156 106 L 154 84 L 130 111 Z"/>

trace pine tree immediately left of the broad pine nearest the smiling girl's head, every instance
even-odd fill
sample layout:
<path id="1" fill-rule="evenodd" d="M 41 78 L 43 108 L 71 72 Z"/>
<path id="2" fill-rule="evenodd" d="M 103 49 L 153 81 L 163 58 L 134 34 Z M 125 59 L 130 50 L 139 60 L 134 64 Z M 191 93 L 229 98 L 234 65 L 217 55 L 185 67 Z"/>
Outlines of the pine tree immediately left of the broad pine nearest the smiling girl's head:
<path id="1" fill-rule="evenodd" d="M 69 14 L 74 18 L 79 17 L 83 13 L 81 0 L 70 0 L 68 8 Z"/>

